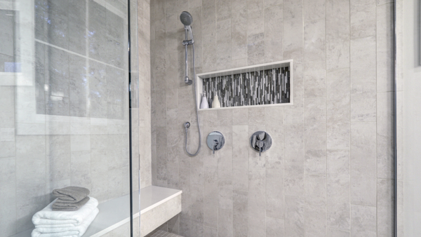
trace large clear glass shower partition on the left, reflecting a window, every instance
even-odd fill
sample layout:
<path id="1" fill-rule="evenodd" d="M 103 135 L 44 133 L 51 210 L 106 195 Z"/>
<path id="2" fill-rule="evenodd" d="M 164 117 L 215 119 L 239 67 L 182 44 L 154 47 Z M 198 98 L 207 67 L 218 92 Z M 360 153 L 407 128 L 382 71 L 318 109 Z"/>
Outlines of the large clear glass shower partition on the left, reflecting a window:
<path id="1" fill-rule="evenodd" d="M 99 203 L 102 224 L 94 220 L 84 236 L 107 228 L 131 235 L 139 189 L 136 43 L 130 60 L 127 50 L 135 1 L 130 8 L 126 0 L 0 1 L 1 236 L 30 236 L 53 189 L 69 186 L 89 189 Z M 119 228 L 103 224 L 116 213 Z"/>

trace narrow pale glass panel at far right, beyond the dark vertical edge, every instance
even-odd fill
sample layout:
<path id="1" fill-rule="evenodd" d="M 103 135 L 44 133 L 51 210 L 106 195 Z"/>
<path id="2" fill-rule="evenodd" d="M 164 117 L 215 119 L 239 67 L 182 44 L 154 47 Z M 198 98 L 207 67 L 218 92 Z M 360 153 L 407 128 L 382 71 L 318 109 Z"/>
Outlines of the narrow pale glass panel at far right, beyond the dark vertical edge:
<path id="1" fill-rule="evenodd" d="M 420 1 L 396 2 L 397 236 L 421 236 Z"/>

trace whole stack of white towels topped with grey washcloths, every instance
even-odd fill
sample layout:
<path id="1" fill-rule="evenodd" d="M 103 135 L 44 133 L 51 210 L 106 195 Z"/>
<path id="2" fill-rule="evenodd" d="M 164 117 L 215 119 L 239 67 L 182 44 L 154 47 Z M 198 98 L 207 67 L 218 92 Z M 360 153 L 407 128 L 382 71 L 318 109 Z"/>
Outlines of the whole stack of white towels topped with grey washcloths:
<path id="1" fill-rule="evenodd" d="M 53 194 L 58 198 L 32 217 L 35 225 L 32 237 L 81 237 L 100 211 L 95 198 L 83 197 L 81 191 L 86 193 L 86 190 L 55 189 Z"/>

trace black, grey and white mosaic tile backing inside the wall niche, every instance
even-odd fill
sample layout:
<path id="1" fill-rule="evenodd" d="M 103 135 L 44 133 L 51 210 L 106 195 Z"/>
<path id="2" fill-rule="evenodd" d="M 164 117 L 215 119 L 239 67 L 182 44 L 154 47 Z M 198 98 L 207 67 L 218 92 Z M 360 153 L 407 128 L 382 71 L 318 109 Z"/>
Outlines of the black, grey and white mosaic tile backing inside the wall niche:
<path id="1" fill-rule="evenodd" d="M 280 67 L 203 79 L 208 104 L 218 95 L 221 107 L 290 102 L 290 70 Z"/>

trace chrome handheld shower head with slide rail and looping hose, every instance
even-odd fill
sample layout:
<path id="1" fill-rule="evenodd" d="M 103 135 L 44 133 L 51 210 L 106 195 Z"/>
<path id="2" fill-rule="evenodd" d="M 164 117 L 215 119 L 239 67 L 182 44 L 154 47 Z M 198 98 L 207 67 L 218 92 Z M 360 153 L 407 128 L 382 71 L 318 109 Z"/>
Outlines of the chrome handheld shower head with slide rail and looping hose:
<path id="1" fill-rule="evenodd" d="M 192 15 L 190 13 L 188 13 L 187 11 L 183 11 L 180 15 L 180 20 L 182 22 L 183 25 L 185 25 L 185 40 L 182 41 L 182 45 L 185 46 L 186 48 L 186 76 L 185 76 L 185 83 L 187 85 L 192 85 L 194 86 L 194 101 L 197 104 L 197 98 L 196 98 L 196 80 L 194 80 L 194 76 L 196 76 L 196 64 L 194 63 L 194 39 L 193 39 L 193 32 L 192 32 L 192 22 L 193 22 L 193 18 Z M 190 36 L 190 39 L 189 39 Z M 193 47 L 193 80 L 189 79 L 189 45 L 192 45 Z M 197 148 L 197 151 L 195 153 L 190 153 L 189 150 L 187 149 L 187 135 L 189 132 L 189 128 L 190 128 L 190 123 L 186 122 L 184 124 L 185 126 L 185 150 L 187 152 L 187 154 L 189 154 L 189 156 L 196 156 L 197 154 L 199 154 L 200 148 L 201 148 L 201 131 L 200 131 L 200 122 L 199 122 L 199 111 L 196 107 L 196 118 L 197 118 L 197 127 L 199 128 L 199 147 Z"/>

